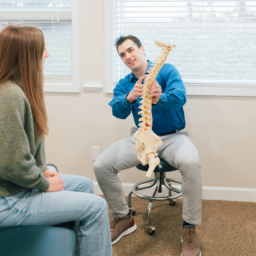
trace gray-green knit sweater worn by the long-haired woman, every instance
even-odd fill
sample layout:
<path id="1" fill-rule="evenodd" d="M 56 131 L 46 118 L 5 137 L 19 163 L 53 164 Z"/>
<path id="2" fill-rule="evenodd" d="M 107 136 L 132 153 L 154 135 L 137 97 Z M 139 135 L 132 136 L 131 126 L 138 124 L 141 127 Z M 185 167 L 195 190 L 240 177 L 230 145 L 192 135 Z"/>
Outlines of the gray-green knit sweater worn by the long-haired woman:
<path id="1" fill-rule="evenodd" d="M 47 190 L 46 169 L 44 140 L 28 99 L 17 84 L 0 84 L 0 196 Z"/>

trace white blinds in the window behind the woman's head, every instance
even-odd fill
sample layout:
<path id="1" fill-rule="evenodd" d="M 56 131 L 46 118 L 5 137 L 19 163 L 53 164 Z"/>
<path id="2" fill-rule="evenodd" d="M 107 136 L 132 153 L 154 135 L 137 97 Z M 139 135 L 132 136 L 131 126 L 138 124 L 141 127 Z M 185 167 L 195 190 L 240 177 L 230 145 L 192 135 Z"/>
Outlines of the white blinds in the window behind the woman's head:
<path id="1" fill-rule="evenodd" d="M 43 31 L 49 58 L 47 77 L 72 78 L 72 0 L 2 0 L 0 30 L 10 23 L 34 25 Z"/>

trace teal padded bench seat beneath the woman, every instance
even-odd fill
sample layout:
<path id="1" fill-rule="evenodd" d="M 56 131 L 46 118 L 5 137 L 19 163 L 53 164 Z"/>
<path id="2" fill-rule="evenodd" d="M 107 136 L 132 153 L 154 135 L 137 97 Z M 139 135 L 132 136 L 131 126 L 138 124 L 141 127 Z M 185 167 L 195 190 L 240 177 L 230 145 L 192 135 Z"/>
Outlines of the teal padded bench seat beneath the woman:
<path id="1" fill-rule="evenodd" d="M 75 233 L 55 226 L 0 228 L 0 254 L 6 256 L 73 256 Z"/>

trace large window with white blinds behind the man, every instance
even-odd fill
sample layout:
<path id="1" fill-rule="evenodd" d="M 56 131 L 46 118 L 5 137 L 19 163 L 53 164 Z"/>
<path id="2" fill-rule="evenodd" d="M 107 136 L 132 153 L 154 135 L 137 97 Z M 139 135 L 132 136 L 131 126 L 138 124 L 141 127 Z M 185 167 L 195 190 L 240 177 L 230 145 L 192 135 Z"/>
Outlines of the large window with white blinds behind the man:
<path id="1" fill-rule="evenodd" d="M 113 63 L 106 92 L 130 72 L 114 41 L 133 34 L 151 60 L 161 50 L 154 40 L 176 45 L 166 62 L 180 71 L 187 94 L 256 96 L 256 1 L 106 2 L 106 59 Z"/>

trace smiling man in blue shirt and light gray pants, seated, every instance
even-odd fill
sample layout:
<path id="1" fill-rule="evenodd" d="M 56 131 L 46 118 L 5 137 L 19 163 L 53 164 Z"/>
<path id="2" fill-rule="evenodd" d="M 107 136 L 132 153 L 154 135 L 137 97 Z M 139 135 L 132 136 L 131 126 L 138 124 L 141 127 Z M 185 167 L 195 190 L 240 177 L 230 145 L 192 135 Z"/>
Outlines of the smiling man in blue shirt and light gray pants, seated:
<path id="1" fill-rule="evenodd" d="M 131 73 L 121 79 L 114 89 L 110 102 L 113 115 L 125 119 L 133 113 L 139 128 L 139 102 L 142 96 L 143 79 L 152 62 L 146 60 L 145 49 L 137 37 L 119 37 L 117 52 Z M 163 141 L 158 148 L 160 158 L 181 172 L 183 190 L 183 256 L 201 255 L 195 226 L 201 224 L 202 175 L 198 151 L 190 141 L 185 129 L 183 105 L 186 103 L 186 89 L 180 73 L 172 64 L 164 64 L 157 79 L 151 84 L 152 130 Z M 133 215 L 123 195 L 117 173 L 140 163 L 137 159 L 135 139 L 131 136 L 109 146 L 97 158 L 93 169 L 99 186 L 115 217 L 110 225 L 112 244 L 136 230 Z"/>

